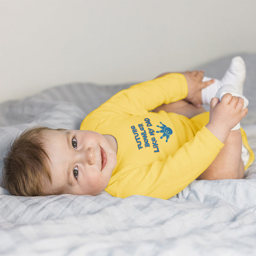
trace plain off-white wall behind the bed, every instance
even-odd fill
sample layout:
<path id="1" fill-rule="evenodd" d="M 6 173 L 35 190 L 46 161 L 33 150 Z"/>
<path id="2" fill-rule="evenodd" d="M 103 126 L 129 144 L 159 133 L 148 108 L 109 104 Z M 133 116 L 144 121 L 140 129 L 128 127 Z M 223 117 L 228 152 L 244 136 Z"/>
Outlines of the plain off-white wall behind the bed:
<path id="1" fill-rule="evenodd" d="M 0 102 L 256 52 L 256 0 L 0 0 Z"/>

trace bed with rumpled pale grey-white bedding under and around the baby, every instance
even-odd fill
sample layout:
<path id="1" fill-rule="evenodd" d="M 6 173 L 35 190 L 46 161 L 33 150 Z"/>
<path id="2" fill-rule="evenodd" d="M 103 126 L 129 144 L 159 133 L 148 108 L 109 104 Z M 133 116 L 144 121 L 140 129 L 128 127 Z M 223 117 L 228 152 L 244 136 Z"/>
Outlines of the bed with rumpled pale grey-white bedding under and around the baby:
<path id="1" fill-rule="evenodd" d="M 256 154 L 256 55 L 240 55 L 249 99 L 242 126 Z M 195 68 L 221 78 L 233 56 Z M 79 129 L 87 113 L 132 84 L 64 84 L 1 103 L 0 169 L 8 144 L 27 127 Z M 107 192 L 20 197 L 9 195 L 1 183 L 0 255 L 187 254 L 256 255 L 255 162 L 244 179 L 195 180 L 168 200 L 121 199 Z"/>

